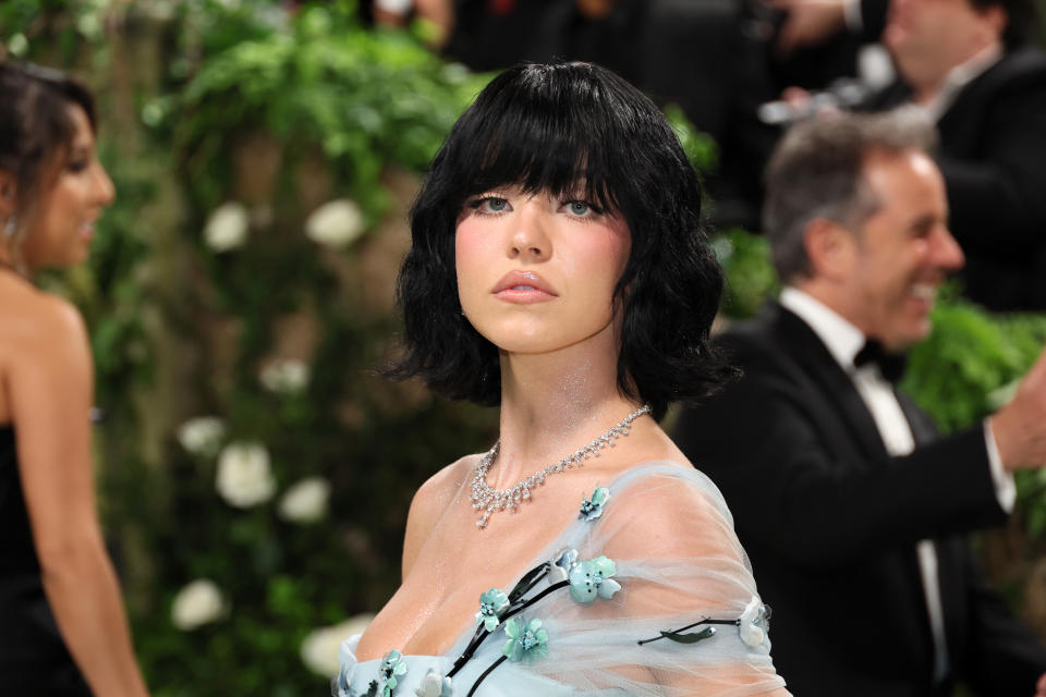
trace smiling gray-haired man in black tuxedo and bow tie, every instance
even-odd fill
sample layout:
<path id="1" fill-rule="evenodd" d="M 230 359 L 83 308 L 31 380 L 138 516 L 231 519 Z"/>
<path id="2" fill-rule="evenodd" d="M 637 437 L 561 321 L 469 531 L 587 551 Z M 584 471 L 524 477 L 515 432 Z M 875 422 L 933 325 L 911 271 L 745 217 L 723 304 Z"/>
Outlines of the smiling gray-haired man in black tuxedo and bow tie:
<path id="1" fill-rule="evenodd" d="M 802 697 L 1046 695 L 1046 651 L 987 588 L 963 535 L 1046 463 L 1046 354 L 1013 401 L 939 438 L 892 388 L 963 255 L 932 126 L 905 113 L 794 127 L 767 170 L 779 302 L 719 339 L 743 370 L 674 439 L 721 489 Z"/>

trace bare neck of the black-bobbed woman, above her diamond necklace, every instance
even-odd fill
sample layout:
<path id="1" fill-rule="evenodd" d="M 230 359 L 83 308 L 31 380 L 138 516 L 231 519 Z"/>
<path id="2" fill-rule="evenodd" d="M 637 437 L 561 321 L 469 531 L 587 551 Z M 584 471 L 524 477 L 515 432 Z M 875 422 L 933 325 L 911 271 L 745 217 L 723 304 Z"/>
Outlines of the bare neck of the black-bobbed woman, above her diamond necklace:
<path id="1" fill-rule="evenodd" d="M 501 449 L 489 484 L 512 486 L 595 440 L 637 407 L 618 391 L 612 352 L 503 354 Z"/>

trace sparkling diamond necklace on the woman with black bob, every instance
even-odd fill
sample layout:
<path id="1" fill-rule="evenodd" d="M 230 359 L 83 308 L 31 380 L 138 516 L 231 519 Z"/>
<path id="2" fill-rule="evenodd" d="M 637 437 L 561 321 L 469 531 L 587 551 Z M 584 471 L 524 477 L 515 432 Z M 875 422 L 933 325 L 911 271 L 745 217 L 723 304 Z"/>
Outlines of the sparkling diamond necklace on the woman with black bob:
<path id="1" fill-rule="evenodd" d="M 470 497 L 472 499 L 472 508 L 474 511 L 483 509 L 483 516 L 476 521 L 476 526 L 481 530 L 487 527 L 487 521 L 490 519 L 490 514 L 495 511 L 508 509 L 514 513 L 515 508 L 521 501 L 531 500 L 531 489 L 545 484 L 545 477 L 562 472 L 563 469 L 570 469 L 574 465 L 581 467 L 589 457 L 598 457 L 601 449 L 607 445 L 613 447 L 617 439 L 629 435 L 629 427 L 632 426 L 632 421 L 649 413 L 650 405 L 644 404 L 618 424 L 611 426 L 606 433 L 587 445 L 582 445 L 559 462 L 555 462 L 544 469 L 535 472 L 530 477 L 518 482 L 514 487 L 501 489 L 500 491 L 487 484 L 487 473 L 490 470 L 494 461 L 497 460 L 498 451 L 501 450 L 501 439 L 499 438 L 498 442 L 494 444 L 494 448 L 479 458 L 479 462 L 473 469 L 472 496 Z"/>

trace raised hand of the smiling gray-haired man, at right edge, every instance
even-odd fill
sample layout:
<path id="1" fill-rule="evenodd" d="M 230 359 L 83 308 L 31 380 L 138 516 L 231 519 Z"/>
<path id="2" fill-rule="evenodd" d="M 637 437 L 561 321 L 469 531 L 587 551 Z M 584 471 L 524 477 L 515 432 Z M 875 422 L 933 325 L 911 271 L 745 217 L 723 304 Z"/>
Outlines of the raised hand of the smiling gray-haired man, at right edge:
<path id="1" fill-rule="evenodd" d="M 990 424 L 1005 469 L 1046 466 L 1046 351 Z M 1046 683 L 1039 681 L 1038 689 L 1046 697 Z"/>

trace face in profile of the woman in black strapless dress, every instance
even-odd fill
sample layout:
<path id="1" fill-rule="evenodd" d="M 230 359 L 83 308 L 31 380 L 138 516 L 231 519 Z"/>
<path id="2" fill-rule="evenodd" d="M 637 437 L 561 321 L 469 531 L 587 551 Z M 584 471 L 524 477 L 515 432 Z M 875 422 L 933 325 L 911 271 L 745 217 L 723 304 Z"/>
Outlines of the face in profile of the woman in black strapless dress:
<path id="1" fill-rule="evenodd" d="M 75 134 L 45 173 L 40 200 L 26 231 L 22 255 L 31 270 L 69 267 L 87 257 L 95 221 L 112 203 L 112 181 L 95 154 L 95 134 L 80 106 L 70 106 Z"/>

